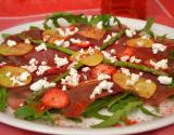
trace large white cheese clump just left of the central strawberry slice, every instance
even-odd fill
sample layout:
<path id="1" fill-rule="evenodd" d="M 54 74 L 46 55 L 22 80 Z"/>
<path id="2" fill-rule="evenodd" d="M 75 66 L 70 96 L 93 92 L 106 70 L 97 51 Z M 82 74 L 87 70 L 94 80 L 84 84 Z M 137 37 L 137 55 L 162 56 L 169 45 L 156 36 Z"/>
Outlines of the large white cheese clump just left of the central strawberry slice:
<path id="1" fill-rule="evenodd" d="M 69 84 L 69 85 L 78 85 L 79 82 L 79 75 L 76 69 L 70 69 L 70 76 L 66 76 L 65 79 L 61 80 L 61 84 Z"/>

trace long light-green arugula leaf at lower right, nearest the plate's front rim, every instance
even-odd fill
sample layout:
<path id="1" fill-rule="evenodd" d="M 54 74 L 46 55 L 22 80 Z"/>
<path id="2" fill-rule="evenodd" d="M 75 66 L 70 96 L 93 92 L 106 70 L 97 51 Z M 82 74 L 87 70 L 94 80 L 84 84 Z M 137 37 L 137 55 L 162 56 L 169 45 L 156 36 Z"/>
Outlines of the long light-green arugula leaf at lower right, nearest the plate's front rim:
<path id="1" fill-rule="evenodd" d="M 121 109 L 114 111 L 112 117 L 108 118 L 99 124 L 92 125 L 91 127 L 109 127 L 113 124 L 116 124 L 123 117 L 125 117 L 128 112 L 141 104 L 142 103 L 140 100 L 130 102 L 123 106 Z"/>

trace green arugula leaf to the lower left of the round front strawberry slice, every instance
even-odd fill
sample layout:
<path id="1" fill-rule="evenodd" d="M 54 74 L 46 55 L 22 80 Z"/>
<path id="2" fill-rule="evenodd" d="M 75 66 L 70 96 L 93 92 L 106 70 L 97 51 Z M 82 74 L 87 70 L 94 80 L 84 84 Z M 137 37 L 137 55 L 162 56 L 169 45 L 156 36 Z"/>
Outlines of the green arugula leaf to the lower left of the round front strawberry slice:
<path id="1" fill-rule="evenodd" d="M 51 113 L 48 110 L 45 110 L 44 112 L 38 112 L 36 109 L 34 109 L 29 105 L 18 107 L 15 110 L 14 116 L 16 118 L 25 119 L 29 121 L 45 119 L 45 120 L 50 121 L 51 123 L 54 122 L 53 118 L 51 117 Z"/>

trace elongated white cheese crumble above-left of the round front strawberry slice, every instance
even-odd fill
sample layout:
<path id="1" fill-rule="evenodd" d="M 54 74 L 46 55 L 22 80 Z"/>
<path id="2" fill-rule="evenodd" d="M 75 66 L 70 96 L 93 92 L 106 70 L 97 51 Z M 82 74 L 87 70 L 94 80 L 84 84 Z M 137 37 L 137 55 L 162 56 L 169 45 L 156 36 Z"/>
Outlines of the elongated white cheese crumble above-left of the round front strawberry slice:
<path id="1" fill-rule="evenodd" d="M 55 85 L 57 85 L 57 83 L 48 82 L 47 78 L 44 78 L 44 79 L 40 79 L 37 82 L 33 83 L 30 85 L 30 90 L 32 91 L 39 91 L 41 89 L 48 89 L 48 87 L 52 87 L 52 86 L 55 86 Z"/>

